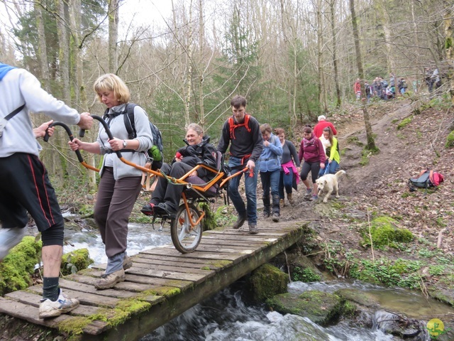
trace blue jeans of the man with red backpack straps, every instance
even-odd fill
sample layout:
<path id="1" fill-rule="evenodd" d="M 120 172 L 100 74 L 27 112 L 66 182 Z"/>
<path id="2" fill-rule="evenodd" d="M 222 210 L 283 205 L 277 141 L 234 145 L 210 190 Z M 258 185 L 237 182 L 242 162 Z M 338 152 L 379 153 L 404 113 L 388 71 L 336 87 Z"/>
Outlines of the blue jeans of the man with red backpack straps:
<path id="1" fill-rule="evenodd" d="M 240 171 L 241 168 L 237 168 L 237 166 L 240 166 L 240 164 L 241 164 L 240 158 L 235 158 L 235 157 L 231 156 L 231 158 L 228 160 L 228 166 L 230 166 L 232 169 L 235 168 L 235 170 L 232 171 L 232 174 Z M 238 175 L 235 178 L 231 178 L 230 183 L 228 185 L 228 196 L 232 200 L 232 203 L 236 209 L 236 212 L 238 212 L 239 216 L 242 216 L 245 213 L 247 213 L 249 224 L 257 223 L 257 194 L 256 194 L 257 193 L 257 179 L 258 179 L 257 173 L 258 173 L 258 168 L 254 169 L 254 173 L 253 173 L 252 177 L 249 176 L 250 175 L 249 171 L 244 173 L 246 200 L 248 201 L 247 210 L 246 210 L 246 206 L 243 202 L 243 199 L 241 198 L 241 195 L 238 192 L 238 187 L 240 185 L 240 179 L 243 177 L 243 174 Z"/>

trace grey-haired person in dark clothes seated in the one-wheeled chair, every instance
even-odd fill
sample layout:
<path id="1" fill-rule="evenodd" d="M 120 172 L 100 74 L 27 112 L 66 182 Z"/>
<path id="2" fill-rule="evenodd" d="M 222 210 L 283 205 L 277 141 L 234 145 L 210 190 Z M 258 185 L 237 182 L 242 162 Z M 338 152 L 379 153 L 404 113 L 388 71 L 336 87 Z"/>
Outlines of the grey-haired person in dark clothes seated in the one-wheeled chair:
<path id="1" fill-rule="evenodd" d="M 209 136 L 204 136 L 204 131 L 199 124 L 189 124 L 186 131 L 186 139 L 184 139 L 187 146 L 179 148 L 172 163 L 164 163 L 160 171 L 171 178 L 178 179 L 191 171 L 200 162 L 216 168 L 217 151 L 209 141 Z M 189 176 L 198 176 L 208 182 L 215 175 L 216 173 L 201 167 Z M 183 185 L 169 183 L 165 177 L 158 177 L 151 201 L 144 205 L 140 211 L 144 215 L 174 216 L 184 188 Z"/>

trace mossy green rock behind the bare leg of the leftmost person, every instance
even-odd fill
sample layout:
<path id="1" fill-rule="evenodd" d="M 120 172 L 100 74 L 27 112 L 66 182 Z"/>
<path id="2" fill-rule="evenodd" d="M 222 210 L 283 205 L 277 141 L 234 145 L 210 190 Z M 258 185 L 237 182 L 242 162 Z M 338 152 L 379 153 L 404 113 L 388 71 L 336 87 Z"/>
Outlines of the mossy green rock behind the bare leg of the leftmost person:
<path id="1" fill-rule="evenodd" d="M 0 296 L 31 286 L 35 264 L 40 263 L 43 243 L 35 237 L 23 237 L 0 263 Z"/>

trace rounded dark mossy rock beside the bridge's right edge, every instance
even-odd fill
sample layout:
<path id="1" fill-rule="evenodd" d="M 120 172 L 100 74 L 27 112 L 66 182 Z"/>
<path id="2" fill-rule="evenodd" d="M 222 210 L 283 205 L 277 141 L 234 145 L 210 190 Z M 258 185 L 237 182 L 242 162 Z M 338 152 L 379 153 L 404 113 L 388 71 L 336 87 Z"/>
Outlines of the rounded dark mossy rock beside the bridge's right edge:
<path id="1" fill-rule="evenodd" d="M 248 281 L 253 300 L 263 302 L 277 293 L 286 293 L 289 277 L 271 264 L 255 269 Z"/>

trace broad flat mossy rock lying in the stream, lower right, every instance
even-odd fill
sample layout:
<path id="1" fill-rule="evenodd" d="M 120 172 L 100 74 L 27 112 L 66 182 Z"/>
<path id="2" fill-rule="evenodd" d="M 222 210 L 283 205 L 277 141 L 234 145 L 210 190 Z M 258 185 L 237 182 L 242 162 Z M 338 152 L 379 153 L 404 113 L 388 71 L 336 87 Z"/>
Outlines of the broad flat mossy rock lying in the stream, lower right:
<path id="1" fill-rule="evenodd" d="M 282 293 L 267 300 L 267 304 L 282 314 L 309 318 L 319 325 L 334 323 L 343 313 L 345 301 L 333 293 L 309 290 L 301 295 Z"/>

